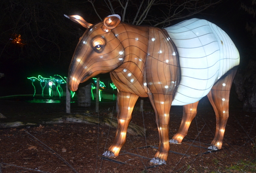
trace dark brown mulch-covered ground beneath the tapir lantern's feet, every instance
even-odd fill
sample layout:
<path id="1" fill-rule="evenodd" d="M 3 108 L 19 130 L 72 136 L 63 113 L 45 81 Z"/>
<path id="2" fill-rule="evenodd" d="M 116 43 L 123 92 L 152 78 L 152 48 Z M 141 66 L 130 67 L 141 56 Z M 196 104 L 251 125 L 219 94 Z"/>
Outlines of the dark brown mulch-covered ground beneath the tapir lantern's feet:
<path id="1" fill-rule="evenodd" d="M 147 136 L 128 135 L 120 155 L 113 160 L 102 158 L 115 137 L 115 129 L 88 124 L 52 124 L 43 122 L 65 113 L 65 102 L 28 103 L 20 99 L 0 100 L 0 112 L 8 121 L 37 122 L 41 126 L 0 129 L 0 173 L 253 173 L 256 172 L 256 115 L 230 107 L 230 118 L 223 149 L 206 148 L 215 133 L 215 114 L 206 100 L 201 101 L 182 144 L 171 144 L 166 165 L 149 163 L 159 142 L 154 112 L 139 101 L 132 122 L 147 129 Z M 99 114 L 90 108 L 71 104 L 72 113 L 89 112 L 95 116 L 116 116 L 114 102 L 102 102 Z M 177 132 L 182 107 L 172 107 L 169 136 Z M 144 124 L 143 124 L 144 119 Z M 7 121 L 0 119 L 0 121 Z M 175 153 L 176 152 L 176 153 Z M 131 154 L 132 153 L 132 154 Z M 139 155 L 139 156 L 138 156 Z M 143 156 L 143 157 L 142 157 Z"/>

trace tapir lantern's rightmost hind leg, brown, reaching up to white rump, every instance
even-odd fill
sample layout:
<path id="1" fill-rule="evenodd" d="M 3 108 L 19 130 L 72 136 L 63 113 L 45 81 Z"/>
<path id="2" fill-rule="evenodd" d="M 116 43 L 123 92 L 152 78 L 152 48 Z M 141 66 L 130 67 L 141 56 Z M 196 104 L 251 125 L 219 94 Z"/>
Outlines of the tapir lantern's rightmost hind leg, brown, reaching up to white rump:
<path id="1" fill-rule="evenodd" d="M 223 76 L 212 86 L 211 91 L 207 95 L 216 115 L 215 137 L 209 149 L 218 150 L 222 147 L 225 127 L 229 117 L 230 89 L 236 71 L 237 68 L 234 68 L 227 72 L 226 76 Z"/>

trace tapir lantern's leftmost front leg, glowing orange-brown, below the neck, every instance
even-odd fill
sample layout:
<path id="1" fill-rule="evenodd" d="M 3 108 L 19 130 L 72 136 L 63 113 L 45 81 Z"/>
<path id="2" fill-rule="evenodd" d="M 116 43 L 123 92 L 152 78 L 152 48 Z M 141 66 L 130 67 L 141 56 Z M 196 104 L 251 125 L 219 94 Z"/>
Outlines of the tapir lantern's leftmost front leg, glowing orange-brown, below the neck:
<path id="1" fill-rule="evenodd" d="M 108 151 L 103 153 L 103 156 L 114 157 L 119 155 L 119 151 L 125 144 L 128 125 L 131 121 L 131 113 L 138 98 L 138 95 L 132 93 L 118 92 L 117 102 L 119 110 L 117 114 L 116 137 Z"/>

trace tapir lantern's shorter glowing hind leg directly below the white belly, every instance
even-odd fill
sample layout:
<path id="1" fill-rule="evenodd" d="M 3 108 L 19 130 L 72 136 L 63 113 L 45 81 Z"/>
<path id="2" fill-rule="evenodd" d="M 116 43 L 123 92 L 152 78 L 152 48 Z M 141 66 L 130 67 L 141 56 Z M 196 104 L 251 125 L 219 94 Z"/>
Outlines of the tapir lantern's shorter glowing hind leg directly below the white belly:
<path id="1" fill-rule="evenodd" d="M 179 144 L 183 138 L 187 135 L 191 121 L 195 118 L 197 113 L 198 102 L 187 104 L 183 106 L 183 117 L 180 124 L 180 128 L 175 136 L 169 141 L 170 143 Z"/>

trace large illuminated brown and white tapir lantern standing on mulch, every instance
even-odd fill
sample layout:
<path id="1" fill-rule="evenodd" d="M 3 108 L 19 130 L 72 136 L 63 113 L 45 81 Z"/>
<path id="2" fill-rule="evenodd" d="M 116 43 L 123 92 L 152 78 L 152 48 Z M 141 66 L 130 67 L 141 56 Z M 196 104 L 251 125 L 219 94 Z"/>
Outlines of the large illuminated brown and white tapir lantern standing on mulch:
<path id="1" fill-rule="evenodd" d="M 107 72 L 118 89 L 116 137 L 104 156 L 119 155 L 139 97 L 148 97 L 156 114 L 160 143 L 151 162 L 166 164 L 171 105 L 183 105 L 180 129 L 170 140 L 181 143 L 205 95 L 217 119 L 210 149 L 221 148 L 239 65 L 239 52 L 223 30 L 201 19 L 160 29 L 121 22 L 119 15 L 94 25 L 77 15 L 65 16 L 87 28 L 70 64 L 70 89 L 76 91 L 79 83 Z"/>

